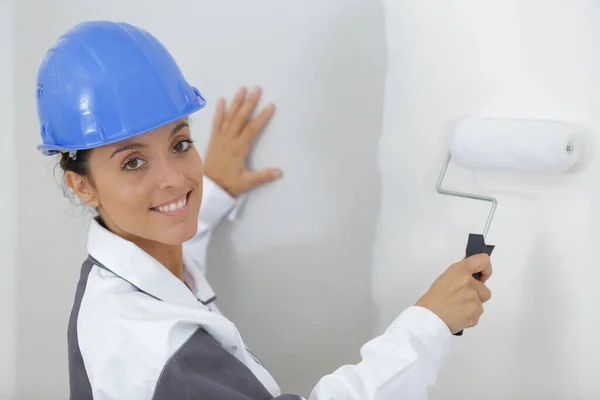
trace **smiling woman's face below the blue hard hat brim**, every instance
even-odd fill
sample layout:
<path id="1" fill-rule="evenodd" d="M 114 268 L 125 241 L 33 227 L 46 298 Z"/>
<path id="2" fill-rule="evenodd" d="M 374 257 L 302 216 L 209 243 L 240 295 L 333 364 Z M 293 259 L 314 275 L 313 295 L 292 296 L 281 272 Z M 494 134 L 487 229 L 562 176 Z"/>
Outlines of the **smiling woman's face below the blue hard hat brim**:
<path id="1" fill-rule="evenodd" d="M 203 166 L 185 120 L 94 149 L 88 171 L 93 205 L 114 233 L 165 244 L 196 234 Z"/>

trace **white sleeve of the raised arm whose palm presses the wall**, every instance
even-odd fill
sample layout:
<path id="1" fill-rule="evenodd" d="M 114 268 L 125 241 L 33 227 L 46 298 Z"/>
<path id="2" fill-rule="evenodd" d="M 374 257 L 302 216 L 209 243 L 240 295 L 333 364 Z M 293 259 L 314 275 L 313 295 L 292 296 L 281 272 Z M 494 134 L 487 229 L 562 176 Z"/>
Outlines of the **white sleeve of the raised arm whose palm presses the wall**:
<path id="1" fill-rule="evenodd" d="M 232 197 L 206 175 L 202 181 L 202 205 L 198 213 L 198 231 L 183 244 L 188 255 L 201 273 L 206 273 L 206 252 L 214 229 L 223 218 L 233 221 L 245 196 Z"/>

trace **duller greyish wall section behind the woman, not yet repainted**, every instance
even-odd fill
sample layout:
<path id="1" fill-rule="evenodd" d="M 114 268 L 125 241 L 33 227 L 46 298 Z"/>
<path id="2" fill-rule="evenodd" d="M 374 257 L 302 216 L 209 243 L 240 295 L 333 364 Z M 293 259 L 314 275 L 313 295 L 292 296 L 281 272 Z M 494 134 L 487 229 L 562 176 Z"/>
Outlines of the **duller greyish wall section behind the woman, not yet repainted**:
<path id="1" fill-rule="evenodd" d="M 35 150 L 35 75 L 44 50 L 86 19 L 125 20 L 163 41 L 209 105 L 259 84 L 278 111 L 251 157 L 284 178 L 217 232 L 209 278 L 221 309 L 287 392 L 308 395 L 355 362 L 376 323 L 371 246 L 380 205 L 385 32 L 369 0 L 16 2 L 20 398 L 66 398 L 66 326 L 87 217 L 63 198 L 54 159 Z M 43 27 L 43 29 L 42 29 Z M 35 249 L 35 251 L 33 251 Z M 35 377 L 35 385 L 32 385 Z"/>

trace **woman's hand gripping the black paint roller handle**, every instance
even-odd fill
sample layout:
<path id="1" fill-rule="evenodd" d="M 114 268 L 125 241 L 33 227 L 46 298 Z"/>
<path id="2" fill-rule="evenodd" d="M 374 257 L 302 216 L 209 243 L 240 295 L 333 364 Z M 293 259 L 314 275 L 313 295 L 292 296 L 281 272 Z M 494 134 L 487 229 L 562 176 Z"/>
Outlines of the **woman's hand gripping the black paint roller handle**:
<path id="1" fill-rule="evenodd" d="M 481 281 L 473 274 L 481 272 Z M 425 307 L 440 317 L 452 333 L 471 328 L 479 323 L 483 303 L 492 294 L 485 282 L 492 275 L 492 264 L 487 254 L 477 254 L 450 266 L 416 305 Z"/>

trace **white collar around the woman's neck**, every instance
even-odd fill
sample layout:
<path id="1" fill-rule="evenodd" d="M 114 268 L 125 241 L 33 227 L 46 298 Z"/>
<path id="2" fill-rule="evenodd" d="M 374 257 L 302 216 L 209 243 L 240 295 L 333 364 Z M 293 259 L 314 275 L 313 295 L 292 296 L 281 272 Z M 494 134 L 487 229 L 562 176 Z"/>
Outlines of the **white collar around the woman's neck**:
<path id="1" fill-rule="evenodd" d="M 93 219 L 90 225 L 87 250 L 90 256 L 107 270 L 139 290 L 167 303 L 198 307 L 198 300 L 208 304 L 210 298 L 214 297 L 212 289 L 206 292 L 206 288 L 202 287 L 196 290 L 196 294 L 201 292 L 202 298 L 197 298 L 185 283 L 165 266 L 133 242 L 104 228 L 96 219 Z M 189 265 L 188 261 L 184 254 L 186 272 L 194 278 L 196 286 L 198 282 L 202 285 L 203 277 L 198 277 L 199 273 L 194 271 L 195 266 Z"/>

